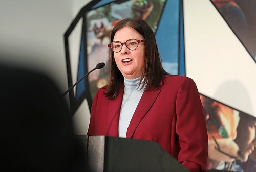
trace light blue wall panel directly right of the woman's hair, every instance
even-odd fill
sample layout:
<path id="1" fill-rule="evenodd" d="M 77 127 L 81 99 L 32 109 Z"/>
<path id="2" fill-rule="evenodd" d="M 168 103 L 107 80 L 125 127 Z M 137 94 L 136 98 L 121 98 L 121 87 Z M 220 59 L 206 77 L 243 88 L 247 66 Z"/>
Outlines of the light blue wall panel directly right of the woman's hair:
<path id="1" fill-rule="evenodd" d="M 168 73 L 177 75 L 179 72 L 179 0 L 166 1 L 158 24 L 156 39 L 163 68 Z"/>

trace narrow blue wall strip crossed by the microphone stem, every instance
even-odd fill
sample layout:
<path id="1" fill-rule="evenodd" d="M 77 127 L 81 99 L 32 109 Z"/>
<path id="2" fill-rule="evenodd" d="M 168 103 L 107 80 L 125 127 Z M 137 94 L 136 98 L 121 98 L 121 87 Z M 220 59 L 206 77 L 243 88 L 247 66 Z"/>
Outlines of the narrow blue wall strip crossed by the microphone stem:
<path id="1" fill-rule="evenodd" d="M 81 45 L 80 45 L 80 56 L 79 56 L 77 81 L 80 80 L 84 76 L 84 74 L 86 74 L 86 73 L 84 73 L 84 71 L 86 71 L 84 69 L 84 61 L 85 61 L 85 59 L 84 59 L 84 36 L 82 35 Z M 86 82 L 83 79 L 79 84 L 77 84 L 76 99 L 78 99 L 84 91 L 86 91 Z"/>

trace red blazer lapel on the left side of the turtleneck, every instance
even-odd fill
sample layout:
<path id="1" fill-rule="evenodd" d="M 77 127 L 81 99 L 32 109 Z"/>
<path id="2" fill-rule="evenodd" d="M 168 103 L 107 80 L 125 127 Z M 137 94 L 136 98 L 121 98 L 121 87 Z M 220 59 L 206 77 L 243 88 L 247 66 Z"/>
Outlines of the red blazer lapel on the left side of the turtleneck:
<path id="1" fill-rule="evenodd" d="M 120 109 L 123 100 L 123 84 L 120 87 L 117 97 L 110 100 L 108 108 L 108 136 L 118 137 L 118 124 Z"/>

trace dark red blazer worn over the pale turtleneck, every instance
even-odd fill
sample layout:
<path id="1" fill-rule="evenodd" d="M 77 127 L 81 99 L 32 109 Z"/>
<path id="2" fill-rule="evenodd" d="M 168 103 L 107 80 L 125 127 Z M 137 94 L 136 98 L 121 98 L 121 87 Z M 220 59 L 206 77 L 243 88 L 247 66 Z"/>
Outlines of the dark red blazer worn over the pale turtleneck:
<path id="1" fill-rule="evenodd" d="M 118 137 L 123 86 L 114 100 L 106 87 L 93 100 L 88 135 Z M 184 76 L 167 76 L 159 89 L 144 91 L 126 138 L 156 141 L 190 171 L 206 171 L 208 138 L 196 84 Z"/>

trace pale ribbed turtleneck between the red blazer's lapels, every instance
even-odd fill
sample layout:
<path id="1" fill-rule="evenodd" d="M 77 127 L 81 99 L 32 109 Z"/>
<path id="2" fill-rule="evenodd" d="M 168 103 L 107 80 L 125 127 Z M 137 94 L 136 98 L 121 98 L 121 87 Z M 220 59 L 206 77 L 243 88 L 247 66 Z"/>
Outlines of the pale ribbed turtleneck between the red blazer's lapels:
<path id="1" fill-rule="evenodd" d="M 140 77 L 133 80 L 124 78 L 123 101 L 118 125 L 119 137 L 126 137 L 127 128 L 144 92 L 144 88 L 140 90 L 139 82 Z"/>

